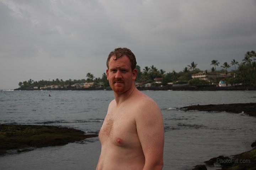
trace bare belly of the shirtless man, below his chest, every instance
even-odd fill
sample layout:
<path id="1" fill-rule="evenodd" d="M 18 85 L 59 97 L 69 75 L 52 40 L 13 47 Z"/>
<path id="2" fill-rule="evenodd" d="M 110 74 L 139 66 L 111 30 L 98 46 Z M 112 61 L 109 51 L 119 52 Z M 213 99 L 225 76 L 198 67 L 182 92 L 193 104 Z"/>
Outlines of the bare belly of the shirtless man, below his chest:
<path id="1" fill-rule="evenodd" d="M 142 149 L 102 146 L 97 170 L 142 170 L 144 165 Z"/>

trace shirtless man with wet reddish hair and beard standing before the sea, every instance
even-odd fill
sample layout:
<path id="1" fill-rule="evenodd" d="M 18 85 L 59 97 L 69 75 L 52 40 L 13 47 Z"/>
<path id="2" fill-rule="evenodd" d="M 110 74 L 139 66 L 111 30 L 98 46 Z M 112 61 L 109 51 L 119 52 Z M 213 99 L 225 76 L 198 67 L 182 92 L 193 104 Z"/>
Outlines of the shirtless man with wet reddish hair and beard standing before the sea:
<path id="1" fill-rule="evenodd" d="M 107 79 L 114 100 L 99 133 L 101 154 L 96 170 L 161 170 L 164 125 L 158 105 L 135 87 L 136 59 L 117 48 L 107 59 Z"/>

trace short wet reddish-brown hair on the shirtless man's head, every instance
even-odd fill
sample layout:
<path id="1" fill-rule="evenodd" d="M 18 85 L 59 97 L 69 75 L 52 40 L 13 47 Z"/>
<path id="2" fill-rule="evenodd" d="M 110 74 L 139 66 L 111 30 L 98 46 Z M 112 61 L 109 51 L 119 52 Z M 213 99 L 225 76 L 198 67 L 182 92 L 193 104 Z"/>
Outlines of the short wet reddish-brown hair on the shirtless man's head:
<path id="1" fill-rule="evenodd" d="M 108 68 L 108 63 L 110 61 L 110 58 L 112 56 L 116 56 L 116 58 L 114 60 L 117 60 L 119 59 L 120 57 L 122 57 L 123 55 L 126 55 L 130 62 L 131 62 L 131 68 L 132 68 L 132 71 L 136 68 L 136 58 L 135 58 L 135 55 L 133 54 L 133 52 L 128 49 L 128 48 L 116 48 L 114 49 L 114 51 L 111 51 L 110 54 L 108 55 L 108 59 L 107 59 L 107 68 Z"/>

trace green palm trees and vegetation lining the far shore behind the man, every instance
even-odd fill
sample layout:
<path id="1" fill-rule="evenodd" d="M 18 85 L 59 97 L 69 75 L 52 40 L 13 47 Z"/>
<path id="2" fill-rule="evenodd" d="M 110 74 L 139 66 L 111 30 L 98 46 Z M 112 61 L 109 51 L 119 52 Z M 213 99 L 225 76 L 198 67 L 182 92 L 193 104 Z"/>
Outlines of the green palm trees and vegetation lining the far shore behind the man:
<path id="1" fill-rule="evenodd" d="M 174 84 L 181 84 L 181 83 L 188 83 L 190 85 L 202 85 L 202 84 L 218 84 L 220 80 L 225 80 L 227 83 L 230 84 L 240 84 L 240 85 L 256 85 L 256 64 L 255 64 L 255 57 L 256 53 L 255 51 L 247 51 L 244 59 L 242 59 L 242 62 L 239 63 L 236 60 L 232 60 L 230 64 L 228 62 L 224 62 L 222 66 L 222 70 L 217 71 L 217 66 L 219 66 L 219 61 L 218 60 L 212 60 L 210 65 L 213 65 L 214 67 L 211 67 L 208 70 L 202 71 L 199 68 L 197 68 L 197 64 L 193 61 L 191 62 L 190 65 L 187 65 L 183 69 L 183 71 L 176 72 L 167 72 L 162 69 L 156 68 L 154 65 L 148 67 L 146 66 L 141 70 L 140 66 L 136 66 L 137 68 L 137 78 L 136 82 L 138 83 L 154 83 L 155 86 L 166 86 L 167 83 L 174 83 Z M 232 70 L 228 72 L 228 68 L 230 65 L 235 67 L 235 70 Z M 238 66 L 238 67 L 237 67 Z M 231 75 L 229 76 L 215 76 L 215 78 L 209 78 L 208 82 L 206 81 L 199 81 L 199 80 L 191 80 L 192 75 L 199 73 L 199 72 L 204 72 L 204 73 L 209 73 L 209 72 L 215 72 L 215 75 L 217 74 L 225 74 L 227 75 L 230 73 Z M 45 86 L 53 86 L 53 85 L 58 85 L 61 88 L 63 86 L 65 88 L 71 87 L 73 84 L 81 84 L 81 83 L 86 83 L 86 82 L 93 82 L 90 87 L 102 87 L 106 89 L 109 84 L 107 80 L 107 75 L 106 73 L 102 74 L 102 77 L 95 78 L 92 73 L 87 73 L 86 74 L 87 79 L 68 79 L 63 81 L 63 79 L 53 79 L 52 81 L 46 81 L 46 80 L 41 80 L 41 81 L 34 81 L 32 79 L 28 81 L 23 81 L 19 82 L 18 85 L 21 88 L 33 88 L 33 87 L 45 87 Z M 59 88 L 60 88 L 59 87 Z"/>

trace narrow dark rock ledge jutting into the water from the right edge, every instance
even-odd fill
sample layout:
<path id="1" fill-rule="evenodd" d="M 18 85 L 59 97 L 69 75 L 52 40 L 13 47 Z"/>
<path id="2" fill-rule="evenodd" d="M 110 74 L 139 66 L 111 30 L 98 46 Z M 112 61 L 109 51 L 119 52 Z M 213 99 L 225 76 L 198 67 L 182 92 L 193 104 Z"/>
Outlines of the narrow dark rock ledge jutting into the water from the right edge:
<path id="1" fill-rule="evenodd" d="M 208 104 L 192 105 L 180 108 L 181 110 L 199 111 L 226 111 L 230 113 L 245 113 L 249 116 L 256 116 L 256 103 L 234 103 L 234 104 Z"/>

